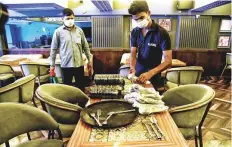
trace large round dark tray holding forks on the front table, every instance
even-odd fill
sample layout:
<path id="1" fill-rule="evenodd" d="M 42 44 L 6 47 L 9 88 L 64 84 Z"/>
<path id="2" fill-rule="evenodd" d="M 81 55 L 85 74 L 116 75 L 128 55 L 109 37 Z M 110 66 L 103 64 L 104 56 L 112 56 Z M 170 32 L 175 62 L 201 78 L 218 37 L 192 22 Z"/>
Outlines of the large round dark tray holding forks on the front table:
<path id="1" fill-rule="evenodd" d="M 97 110 L 101 110 L 101 115 L 99 117 L 99 120 L 100 122 L 103 122 L 107 118 L 109 112 L 124 111 L 131 109 L 135 109 L 135 111 L 114 114 L 108 119 L 107 124 L 102 126 L 98 126 L 94 118 L 90 116 L 90 113 L 97 114 Z M 87 123 L 92 127 L 117 128 L 131 124 L 132 122 L 134 122 L 138 114 L 139 114 L 138 109 L 132 107 L 132 105 L 126 101 L 106 100 L 106 101 L 101 101 L 91 104 L 87 106 L 85 109 L 83 109 L 81 111 L 81 119 L 83 122 Z"/>

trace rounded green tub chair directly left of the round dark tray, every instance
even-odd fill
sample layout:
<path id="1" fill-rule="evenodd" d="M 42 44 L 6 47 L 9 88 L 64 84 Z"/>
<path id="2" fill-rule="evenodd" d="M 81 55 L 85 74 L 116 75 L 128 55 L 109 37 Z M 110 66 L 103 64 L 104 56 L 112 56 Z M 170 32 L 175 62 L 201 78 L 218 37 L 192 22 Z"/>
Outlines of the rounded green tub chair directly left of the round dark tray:
<path id="1" fill-rule="evenodd" d="M 64 137 L 70 137 L 79 120 L 80 111 L 89 97 L 80 89 L 64 84 L 43 84 L 36 90 L 36 97 L 60 125 Z"/>

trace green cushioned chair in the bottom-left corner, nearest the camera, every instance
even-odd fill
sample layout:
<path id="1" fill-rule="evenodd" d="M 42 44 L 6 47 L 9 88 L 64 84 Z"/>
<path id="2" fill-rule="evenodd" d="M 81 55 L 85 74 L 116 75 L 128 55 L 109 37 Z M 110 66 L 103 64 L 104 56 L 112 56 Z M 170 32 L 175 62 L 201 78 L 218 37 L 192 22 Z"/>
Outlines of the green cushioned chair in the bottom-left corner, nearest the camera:
<path id="1" fill-rule="evenodd" d="M 38 108 L 16 104 L 0 103 L 0 144 L 9 147 L 9 140 L 26 132 L 57 130 L 60 140 L 34 140 L 16 147 L 63 147 L 62 134 L 58 123 Z"/>

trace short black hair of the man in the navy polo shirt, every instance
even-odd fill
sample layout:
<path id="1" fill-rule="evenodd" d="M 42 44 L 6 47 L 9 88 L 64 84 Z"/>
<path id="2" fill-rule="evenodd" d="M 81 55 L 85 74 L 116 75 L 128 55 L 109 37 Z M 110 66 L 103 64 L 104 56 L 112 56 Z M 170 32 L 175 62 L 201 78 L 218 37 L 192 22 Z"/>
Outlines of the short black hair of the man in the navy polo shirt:
<path id="1" fill-rule="evenodd" d="M 147 5 L 146 0 L 134 0 L 130 4 L 130 8 L 128 9 L 129 14 L 136 15 L 137 13 L 147 12 L 149 11 L 149 7 Z"/>

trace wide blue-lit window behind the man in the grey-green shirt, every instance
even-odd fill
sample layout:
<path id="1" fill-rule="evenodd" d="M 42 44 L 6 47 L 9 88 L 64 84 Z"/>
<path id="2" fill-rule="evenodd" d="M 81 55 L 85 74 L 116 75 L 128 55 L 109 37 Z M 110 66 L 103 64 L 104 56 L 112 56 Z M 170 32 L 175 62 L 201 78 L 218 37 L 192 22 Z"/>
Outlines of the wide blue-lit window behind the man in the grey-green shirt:
<path id="1" fill-rule="evenodd" d="M 50 48 L 54 31 L 62 18 L 9 18 L 5 25 L 9 49 Z M 90 46 L 92 43 L 90 17 L 76 17 L 75 25 L 82 28 Z"/>

